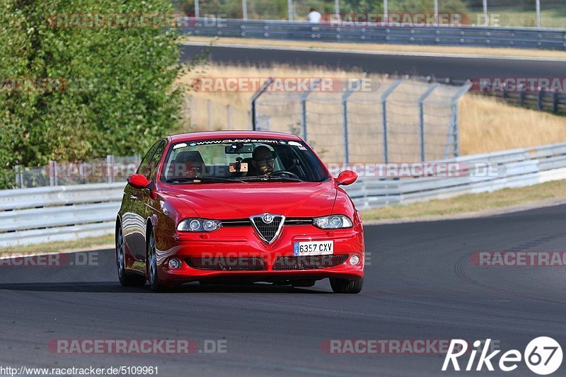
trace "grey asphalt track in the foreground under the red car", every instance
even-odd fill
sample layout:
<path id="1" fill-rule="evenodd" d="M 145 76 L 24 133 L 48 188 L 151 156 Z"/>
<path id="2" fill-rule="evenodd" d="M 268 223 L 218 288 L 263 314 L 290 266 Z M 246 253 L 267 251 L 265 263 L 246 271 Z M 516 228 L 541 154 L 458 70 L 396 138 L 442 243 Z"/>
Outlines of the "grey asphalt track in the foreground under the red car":
<path id="1" fill-rule="evenodd" d="M 112 250 L 98 252 L 98 266 L 0 267 L 0 366 L 158 366 L 159 376 L 475 376 L 441 373 L 439 354 L 326 354 L 320 344 L 491 338 L 503 351 L 523 352 L 546 335 L 564 347 L 565 267 L 476 267 L 469 257 L 478 250 L 565 250 L 565 224 L 566 206 L 558 206 L 366 226 L 371 265 L 358 295 L 331 294 L 326 281 L 309 289 L 187 284 L 154 294 L 118 284 Z M 54 339 L 147 338 L 226 340 L 227 352 L 47 350 Z M 522 363 L 509 375 L 534 376 Z"/>

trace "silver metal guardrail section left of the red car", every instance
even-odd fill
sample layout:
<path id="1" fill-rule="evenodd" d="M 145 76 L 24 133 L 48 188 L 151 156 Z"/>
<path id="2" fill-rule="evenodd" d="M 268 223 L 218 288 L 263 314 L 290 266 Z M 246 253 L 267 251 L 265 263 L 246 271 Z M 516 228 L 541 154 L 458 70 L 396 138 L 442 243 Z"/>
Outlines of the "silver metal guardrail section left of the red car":
<path id="1" fill-rule="evenodd" d="M 114 231 L 125 182 L 0 191 L 0 247 Z"/>

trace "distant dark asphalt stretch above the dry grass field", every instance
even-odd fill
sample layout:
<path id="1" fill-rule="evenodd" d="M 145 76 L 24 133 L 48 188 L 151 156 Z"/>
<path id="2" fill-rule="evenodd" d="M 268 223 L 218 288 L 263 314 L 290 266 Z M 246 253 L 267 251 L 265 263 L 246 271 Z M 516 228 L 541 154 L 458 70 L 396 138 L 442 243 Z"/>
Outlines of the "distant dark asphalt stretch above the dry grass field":
<path id="1" fill-rule="evenodd" d="M 195 57 L 204 47 L 182 45 L 180 61 Z M 375 74 L 409 74 L 434 76 L 437 79 L 477 79 L 492 77 L 530 78 L 563 77 L 566 62 L 504 59 L 476 59 L 468 57 L 423 57 L 387 54 L 359 54 L 348 52 L 307 52 L 292 50 L 265 50 L 255 48 L 212 48 L 212 61 L 224 64 L 270 66 L 327 66 L 341 69 L 362 69 Z"/>

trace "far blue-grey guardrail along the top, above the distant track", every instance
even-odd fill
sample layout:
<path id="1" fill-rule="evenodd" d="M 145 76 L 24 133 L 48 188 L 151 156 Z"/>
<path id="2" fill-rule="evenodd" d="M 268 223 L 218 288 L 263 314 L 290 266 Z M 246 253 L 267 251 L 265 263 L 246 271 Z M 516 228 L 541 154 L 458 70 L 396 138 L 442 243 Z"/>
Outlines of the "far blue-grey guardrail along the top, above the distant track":
<path id="1" fill-rule="evenodd" d="M 211 22 L 210 18 L 197 18 L 190 28 L 182 28 L 181 31 L 207 37 L 566 50 L 566 30 L 550 28 L 405 27 L 379 24 L 362 28 L 340 27 L 330 23 L 244 21 L 234 18 L 219 18 Z"/>

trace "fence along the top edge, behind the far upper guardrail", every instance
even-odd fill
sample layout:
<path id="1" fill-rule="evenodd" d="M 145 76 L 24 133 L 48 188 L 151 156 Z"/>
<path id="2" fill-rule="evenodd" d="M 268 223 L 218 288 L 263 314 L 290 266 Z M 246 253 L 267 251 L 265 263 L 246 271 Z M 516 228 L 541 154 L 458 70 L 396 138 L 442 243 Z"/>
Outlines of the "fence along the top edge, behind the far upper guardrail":
<path id="1" fill-rule="evenodd" d="M 177 11 L 197 17 L 242 20 L 307 21 L 311 8 L 323 20 L 331 14 L 459 14 L 466 25 L 489 27 L 566 28 L 566 14 L 560 0 L 428 0 L 428 1 L 346 1 L 346 0 L 172 0 Z"/>

